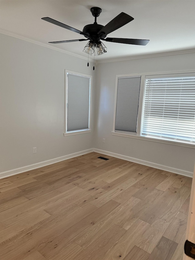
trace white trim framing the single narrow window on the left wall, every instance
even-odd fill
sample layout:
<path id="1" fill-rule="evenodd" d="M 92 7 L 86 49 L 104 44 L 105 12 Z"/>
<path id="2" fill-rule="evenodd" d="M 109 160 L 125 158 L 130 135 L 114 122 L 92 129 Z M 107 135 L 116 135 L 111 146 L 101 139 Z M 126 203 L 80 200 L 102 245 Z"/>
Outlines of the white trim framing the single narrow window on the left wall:
<path id="1" fill-rule="evenodd" d="M 67 132 L 67 73 L 90 78 L 90 106 L 89 106 L 89 129 Z M 64 136 L 90 133 L 91 130 L 91 97 L 92 97 L 92 75 L 65 69 L 65 93 L 64 93 Z"/>

